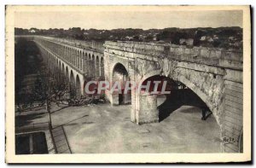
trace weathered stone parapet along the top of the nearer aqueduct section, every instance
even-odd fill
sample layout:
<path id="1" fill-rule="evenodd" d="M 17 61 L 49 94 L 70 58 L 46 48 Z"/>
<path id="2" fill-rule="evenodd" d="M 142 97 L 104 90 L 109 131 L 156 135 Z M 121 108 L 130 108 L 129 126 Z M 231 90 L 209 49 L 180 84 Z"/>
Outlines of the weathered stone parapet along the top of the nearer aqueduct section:
<path id="1" fill-rule="evenodd" d="M 237 49 L 187 47 L 170 43 L 140 43 L 106 41 L 105 52 L 118 54 L 119 51 L 141 55 L 188 61 L 215 67 L 242 70 L 243 53 Z M 117 53 L 116 53 L 117 51 Z"/>

